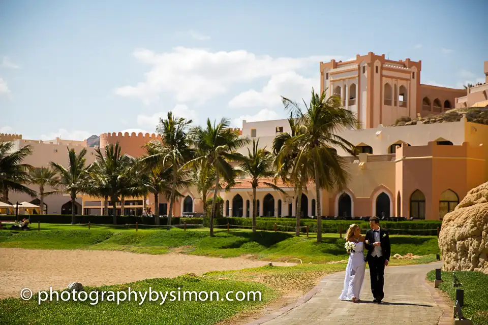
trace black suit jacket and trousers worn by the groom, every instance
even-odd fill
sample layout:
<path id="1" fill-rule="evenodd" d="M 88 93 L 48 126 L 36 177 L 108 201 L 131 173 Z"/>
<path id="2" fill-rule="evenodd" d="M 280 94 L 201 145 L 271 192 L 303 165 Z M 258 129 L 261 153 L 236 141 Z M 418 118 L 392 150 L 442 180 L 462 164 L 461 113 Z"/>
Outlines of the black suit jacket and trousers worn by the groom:
<path id="1" fill-rule="evenodd" d="M 385 294 L 383 293 L 383 287 L 385 283 L 385 261 L 390 260 L 390 238 L 388 236 L 388 231 L 381 229 L 380 243 L 381 243 L 381 256 L 373 256 L 373 250 L 375 246 L 373 245 L 375 240 L 375 233 L 372 229 L 366 232 L 365 240 L 369 244 L 364 243 L 364 247 L 368 248 L 368 254 L 366 255 L 366 261 L 370 267 L 370 277 L 371 277 L 371 292 L 373 297 L 378 300 L 382 300 Z"/>

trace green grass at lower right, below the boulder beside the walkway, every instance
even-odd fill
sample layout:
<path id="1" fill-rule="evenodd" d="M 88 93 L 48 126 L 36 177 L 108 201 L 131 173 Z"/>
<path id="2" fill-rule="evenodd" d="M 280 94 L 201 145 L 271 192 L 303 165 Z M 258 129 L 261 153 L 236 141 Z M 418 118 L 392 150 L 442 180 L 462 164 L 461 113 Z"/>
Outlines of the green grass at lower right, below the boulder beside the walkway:
<path id="1" fill-rule="evenodd" d="M 475 325 L 488 324 L 488 275 L 481 272 L 456 271 L 457 279 L 463 284 L 464 289 L 463 314 L 471 318 Z M 427 279 L 434 281 L 436 272 L 427 274 Z M 456 299 L 456 288 L 452 286 L 452 272 L 442 272 L 443 283 L 439 288 L 445 291 L 454 302 Z"/>

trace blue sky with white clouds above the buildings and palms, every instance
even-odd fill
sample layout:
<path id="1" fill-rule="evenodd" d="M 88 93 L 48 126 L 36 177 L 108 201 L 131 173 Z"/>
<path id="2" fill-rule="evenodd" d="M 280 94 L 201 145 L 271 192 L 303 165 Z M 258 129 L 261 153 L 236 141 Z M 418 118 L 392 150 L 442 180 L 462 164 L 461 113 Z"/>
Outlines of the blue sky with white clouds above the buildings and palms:
<path id="1" fill-rule="evenodd" d="M 0 2 L 0 132 L 27 139 L 285 117 L 319 62 L 422 60 L 421 82 L 483 81 L 486 1 Z"/>

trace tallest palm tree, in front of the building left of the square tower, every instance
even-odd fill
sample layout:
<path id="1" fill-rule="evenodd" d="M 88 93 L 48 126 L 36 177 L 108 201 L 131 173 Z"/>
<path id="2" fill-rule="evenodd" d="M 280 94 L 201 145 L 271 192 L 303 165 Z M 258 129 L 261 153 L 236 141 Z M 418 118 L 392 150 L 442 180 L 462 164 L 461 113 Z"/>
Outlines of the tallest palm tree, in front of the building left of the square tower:
<path id="1" fill-rule="evenodd" d="M 326 99 L 325 94 L 324 91 L 319 95 L 312 88 L 312 98 L 309 105 L 304 103 L 304 112 L 297 103 L 283 98 L 285 109 L 290 110 L 296 118 L 299 129 L 298 134 L 289 142 L 289 145 L 297 150 L 291 174 L 298 173 L 303 181 L 315 181 L 318 242 L 322 239 L 320 189 L 340 188 L 346 185 L 348 179 L 345 161 L 334 147 L 355 155 L 354 145 L 337 133 L 358 125 L 355 114 L 342 108 L 338 96 Z"/>

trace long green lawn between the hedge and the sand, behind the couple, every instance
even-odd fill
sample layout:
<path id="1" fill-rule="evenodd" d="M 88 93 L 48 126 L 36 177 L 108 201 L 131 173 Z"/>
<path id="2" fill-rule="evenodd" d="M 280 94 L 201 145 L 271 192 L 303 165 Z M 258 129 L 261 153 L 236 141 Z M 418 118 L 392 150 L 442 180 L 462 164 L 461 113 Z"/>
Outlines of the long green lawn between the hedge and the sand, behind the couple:
<path id="1" fill-rule="evenodd" d="M 322 242 L 315 236 L 295 237 L 293 233 L 250 230 L 217 230 L 209 237 L 208 229 L 181 230 L 173 228 L 150 230 L 124 230 L 110 226 L 87 230 L 86 226 L 49 225 L 53 230 L 40 232 L 0 232 L 0 247 L 37 249 L 97 249 L 124 250 L 139 253 L 162 254 L 172 251 L 215 256 L 235 257 L 250 255 L 266 261 L 301 259 L 302 263 L 324 263 L 347 259 L 344 239 L 337 234 L 324 234 Z M 83 227 L 83 228 L 82 228 Z M 57 229 L 57 230 L 54 230 Z M 391 250 L 404 255 L 435 256 L 439 252 L 437 237 L 392 235 Z M 298 262 L 292 260 L 290 262 Z"/>

